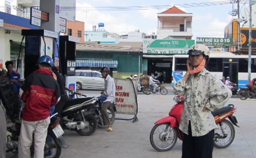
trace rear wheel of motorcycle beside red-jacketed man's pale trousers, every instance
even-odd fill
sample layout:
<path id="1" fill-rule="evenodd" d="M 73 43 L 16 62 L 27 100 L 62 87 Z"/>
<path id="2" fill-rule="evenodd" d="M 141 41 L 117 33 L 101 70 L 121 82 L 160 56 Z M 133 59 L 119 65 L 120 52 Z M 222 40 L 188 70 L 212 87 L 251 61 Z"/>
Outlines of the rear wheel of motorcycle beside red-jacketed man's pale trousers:
<path id="1" fill-rule="evenodd" d="M 57 138 L 53 132 L 48 132 L 45 140 L 45 148 L 43 149 L 45 158 L 58 158 L 61 156 L 61 147 L 57 143 Z"/>

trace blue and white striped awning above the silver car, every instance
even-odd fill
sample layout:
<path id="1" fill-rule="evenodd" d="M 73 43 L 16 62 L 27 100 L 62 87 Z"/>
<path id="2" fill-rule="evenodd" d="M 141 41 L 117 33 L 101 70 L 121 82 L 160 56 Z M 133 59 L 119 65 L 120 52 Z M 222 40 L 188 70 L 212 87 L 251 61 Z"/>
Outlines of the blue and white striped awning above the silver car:
<path id="1" fill-rule="evenodd" d="M 75 60 L 75 66 L 78 67 L 102 67 L 102 66 L 107 66 L 109 68 L 117 68 L 118 61 L 117 60 L 83 60 L 83 59 L 78 59 Z"/>

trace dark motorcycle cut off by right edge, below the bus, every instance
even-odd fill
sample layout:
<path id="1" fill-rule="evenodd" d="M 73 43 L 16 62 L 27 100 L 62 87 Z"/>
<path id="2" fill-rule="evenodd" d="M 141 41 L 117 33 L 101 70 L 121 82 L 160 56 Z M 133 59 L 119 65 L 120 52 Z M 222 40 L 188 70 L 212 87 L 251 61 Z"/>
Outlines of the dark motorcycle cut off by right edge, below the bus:
<path id="1" fill-rule="evenodd" d="M 256 86 L 246 85 L 247 88 L 241 88 L 238 92 L 238 97 L 241 100 L 246 100 L 247 98 L 256 98 Z"/>

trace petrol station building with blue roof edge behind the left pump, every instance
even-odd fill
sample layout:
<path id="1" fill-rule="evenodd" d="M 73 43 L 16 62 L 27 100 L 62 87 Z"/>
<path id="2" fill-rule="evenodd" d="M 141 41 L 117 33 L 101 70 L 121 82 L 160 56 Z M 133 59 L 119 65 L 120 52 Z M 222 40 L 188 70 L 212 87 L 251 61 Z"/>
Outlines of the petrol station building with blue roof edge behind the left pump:
<path id="1" fill-rule="evenodd" d="M 5 67 L 5 61 L 12 60 L 14 70 L 16 70 L 19 53 L 18 72 L 23 75 L 23 55 L 25 48 L 25 40 L 23 44 L 21 30 L 22 29 L 39 29 L 37 26 L 30 24 L 30 20 L 19 16 L 0 12 L 0 19 L 3 20 L 3 27 L 0 27 L 0 68 Z M 19 52 L 21 50 L 21 52 Z"/>

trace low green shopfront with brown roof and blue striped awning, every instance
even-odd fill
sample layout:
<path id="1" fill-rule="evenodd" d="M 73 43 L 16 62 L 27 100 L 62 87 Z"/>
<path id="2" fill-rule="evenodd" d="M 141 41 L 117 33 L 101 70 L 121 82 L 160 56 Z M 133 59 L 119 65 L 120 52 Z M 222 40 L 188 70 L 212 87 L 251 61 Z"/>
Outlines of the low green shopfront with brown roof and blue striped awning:
<path id="1" fill-rule="evenodd" d="M 142 42 L 77 44 L 76 68 L 99 70 L 108 66 L 115 78 L 127 78 L 130 74 L 142 75 Z"/>

